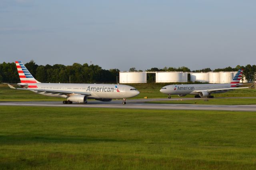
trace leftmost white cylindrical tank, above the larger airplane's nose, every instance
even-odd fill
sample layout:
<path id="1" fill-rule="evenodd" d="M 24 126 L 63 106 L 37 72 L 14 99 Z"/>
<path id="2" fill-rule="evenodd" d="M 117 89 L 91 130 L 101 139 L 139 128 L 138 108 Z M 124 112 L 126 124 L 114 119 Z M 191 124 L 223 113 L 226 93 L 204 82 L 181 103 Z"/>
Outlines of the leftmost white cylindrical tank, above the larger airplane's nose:
<path id="1" fill-rule="evenodd" d="M 147 83 L 146 72 L 119 72 L 119 83 Z"/>

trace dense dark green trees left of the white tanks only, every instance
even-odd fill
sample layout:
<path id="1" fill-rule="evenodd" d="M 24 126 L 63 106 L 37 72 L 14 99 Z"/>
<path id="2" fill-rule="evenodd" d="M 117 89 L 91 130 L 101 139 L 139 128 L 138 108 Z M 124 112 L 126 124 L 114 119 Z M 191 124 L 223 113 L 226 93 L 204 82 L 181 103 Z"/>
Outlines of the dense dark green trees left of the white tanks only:
<path id="1" fill-rule="evenodd" d="M 42 83 L 116 83 L 118 69 L 105 70 L 87 63 L 73 65 L 37 65 L 33 60 L 24 64 L 33 77 Z M 15 63 L 0 63 L 0 83 L 19 83 Z"/>

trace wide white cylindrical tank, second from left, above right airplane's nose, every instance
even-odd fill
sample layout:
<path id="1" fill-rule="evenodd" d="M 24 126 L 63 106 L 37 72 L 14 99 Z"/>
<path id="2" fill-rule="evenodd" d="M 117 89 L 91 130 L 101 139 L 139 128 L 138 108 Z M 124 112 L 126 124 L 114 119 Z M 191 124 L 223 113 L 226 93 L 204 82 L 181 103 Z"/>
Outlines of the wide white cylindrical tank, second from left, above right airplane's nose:
<path id="1" fill-rule="evenodd" d="M 156 83 L 188 82 L 188 73 L 156 72 Z"/>

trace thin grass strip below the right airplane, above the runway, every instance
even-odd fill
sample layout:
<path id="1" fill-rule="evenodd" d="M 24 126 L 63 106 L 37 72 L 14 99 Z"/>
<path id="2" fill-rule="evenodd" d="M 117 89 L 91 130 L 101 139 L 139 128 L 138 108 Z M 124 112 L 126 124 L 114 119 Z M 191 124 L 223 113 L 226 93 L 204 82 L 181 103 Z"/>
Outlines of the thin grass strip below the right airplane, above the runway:
<path id="1" fill-rule="evenodd" d="M 148 101 L 146 103 L 160 104 L 196 104 L 196 105 L 256 105 L 256 98 L 253 99 L 193 99 L 193 100 L 170 100 L 170 101 Z"/>

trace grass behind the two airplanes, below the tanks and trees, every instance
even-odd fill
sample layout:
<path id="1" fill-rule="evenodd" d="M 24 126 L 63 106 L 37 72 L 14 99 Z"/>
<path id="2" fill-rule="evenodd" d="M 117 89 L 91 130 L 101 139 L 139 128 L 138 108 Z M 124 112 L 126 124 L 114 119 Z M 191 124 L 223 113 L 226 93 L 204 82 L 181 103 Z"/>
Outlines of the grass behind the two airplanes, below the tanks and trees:
<path id="1" fill-rule="evenodd" d="M 167 98 L 167 95 L 160 93 L 160 89 L 169 83 L 137 83 L 128 84 L 136 87 L 140 94 L 132 99 L 152 98 Z M 194 97 L 194 95 L 186 95 L 186 97 Z M 256 97 L 256 90 L 254 89 L 237 89 L 228 91 L 226 93 L 214 94 L 218 97 Z M 172 95 L 172 98 L 182 99 L 178 95 Z M 63 101 L 64 98 L 46 97 L 44 95 L 36 94 L 32 91 L 10 89 L 7 85 L 0 85 L 0 101 Z"/>

